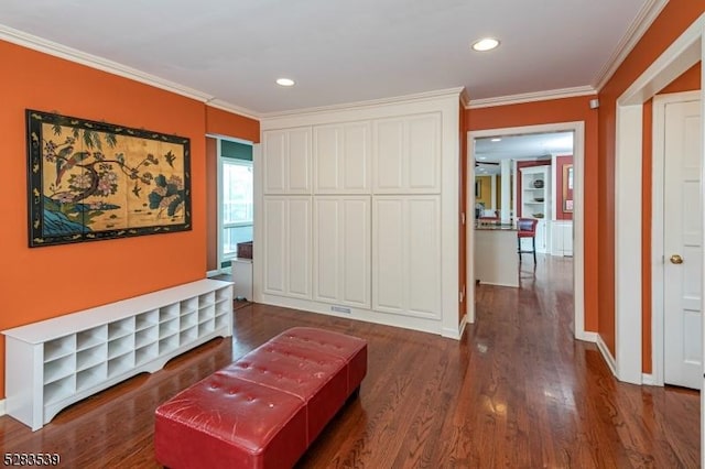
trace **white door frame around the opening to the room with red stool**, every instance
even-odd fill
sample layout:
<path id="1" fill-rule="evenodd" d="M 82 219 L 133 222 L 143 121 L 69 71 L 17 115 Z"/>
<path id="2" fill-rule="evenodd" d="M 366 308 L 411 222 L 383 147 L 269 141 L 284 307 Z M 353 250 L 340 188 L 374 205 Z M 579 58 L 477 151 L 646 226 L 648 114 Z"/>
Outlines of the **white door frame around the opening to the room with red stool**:
<path id="1" fill-rule="evenodd" d="M 574 188 L 573 196 L 575 206 L 573 209 L 573 306 L 574 306 L 574 329 L 575 338 L 594 342 L 597 339 L 595 332 L 585 330 L 585 122 L 556 122 L 538 126 L 510 127 L 502 129 L 471 130 L 467 132 L 467 181 L 475 181 L 475 139 L 484 137 L 516 135 L 522 133 L 549 133 L 573 131 L 573 167 Z M 516 165 L 514 165 L 516 170 Z M 516 204 L 516 198 L 514 198 Z M 475 190 L 467 190 L 466 207 L 468 214 L 475 214 Z M 514 206 L 516 210 L 516 206 Z M 516 211 L 514 211 L 516 212 Z M 475 216 L 468 217 L 468 229 L 466 230 L 466 274 L 468 285 L 474 285 L 475 268 L 473 259 L 475 255 Z M 549 252 L 550 255 L 550 252 Z M 469 297 L 469 295 L 468 295 Z M 475 302 L 468 302 L 467 321 L 475 323 Z"/>

